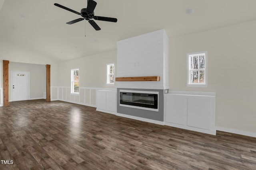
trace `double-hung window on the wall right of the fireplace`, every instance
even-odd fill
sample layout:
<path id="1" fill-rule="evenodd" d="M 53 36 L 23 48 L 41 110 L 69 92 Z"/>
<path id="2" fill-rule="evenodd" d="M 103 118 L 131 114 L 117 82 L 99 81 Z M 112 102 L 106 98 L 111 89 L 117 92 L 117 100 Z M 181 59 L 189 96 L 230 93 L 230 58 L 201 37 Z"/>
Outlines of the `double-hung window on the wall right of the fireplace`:
<path id="1" fill-rule="evenodd" d="M 207 51 L 187 54 L 187 86 L 207 86 Z"/>

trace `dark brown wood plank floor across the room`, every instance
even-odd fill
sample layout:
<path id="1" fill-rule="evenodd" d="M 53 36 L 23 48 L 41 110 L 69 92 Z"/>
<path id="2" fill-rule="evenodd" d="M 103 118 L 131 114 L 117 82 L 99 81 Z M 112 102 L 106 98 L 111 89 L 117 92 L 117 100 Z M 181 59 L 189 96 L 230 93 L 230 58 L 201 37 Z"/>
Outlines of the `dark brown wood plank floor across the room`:
<path id="1" fill-rule="evenodd" d="M 256 170 L 256 138 L 30 100 L 0 107 L 0 160 L 1 170 Z"/>

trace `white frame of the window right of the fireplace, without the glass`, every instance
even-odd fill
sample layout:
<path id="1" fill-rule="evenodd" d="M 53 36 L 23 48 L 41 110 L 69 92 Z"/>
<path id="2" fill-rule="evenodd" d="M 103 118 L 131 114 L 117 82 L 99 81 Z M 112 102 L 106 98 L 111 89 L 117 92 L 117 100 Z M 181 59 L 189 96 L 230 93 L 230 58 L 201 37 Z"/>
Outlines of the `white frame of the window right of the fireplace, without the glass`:
<path id="1" fill-rule="evenodd" d="M 190 57 L 194 57 L 194 56 L 197 56 L 197 55 L 202 55 L 204 54 L 205 58 L 204 58 L 204 67 L 203 69 L 196 69 L 198 71 L 200 70 L 204 70 L 204 83 L 192 83 L 190 82 L 191 80 L 191 77 L 190 77 Z M 207 87 L 208 86 L 208 64 L 207 64 L 207 61 L 208 61 L 208 53 L 207 51 L 201 51 L 201 52 L 196 52 L 196 53 L 187 53 L 187 86 L 188 87 Z"/>

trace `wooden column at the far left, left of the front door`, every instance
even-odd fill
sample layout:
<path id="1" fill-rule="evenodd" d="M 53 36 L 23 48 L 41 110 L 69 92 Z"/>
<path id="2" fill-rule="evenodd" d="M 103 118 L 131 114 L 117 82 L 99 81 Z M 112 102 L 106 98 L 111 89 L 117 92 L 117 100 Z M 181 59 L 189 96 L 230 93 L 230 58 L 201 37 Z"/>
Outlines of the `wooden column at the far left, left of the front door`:
<path id="1" fill-rule="evenodd" d="M 3 60 L 3 103 L 4 106 L 10 106 L 9 102 L 9 61 Z"/>

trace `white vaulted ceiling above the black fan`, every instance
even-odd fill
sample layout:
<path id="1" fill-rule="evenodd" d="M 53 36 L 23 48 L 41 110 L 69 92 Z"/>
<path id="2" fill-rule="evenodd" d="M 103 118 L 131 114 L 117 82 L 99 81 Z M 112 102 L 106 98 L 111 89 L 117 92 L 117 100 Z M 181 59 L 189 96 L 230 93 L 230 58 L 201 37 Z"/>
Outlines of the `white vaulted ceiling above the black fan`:
<path id="1" fill-rule="evenodd" d="M 85 20 L 68 25 L 81 16 L 54 6 L 80 12 L 87 0 L 0 0 L 0 41 L 61 62 L 115 50 L 116 41 L 159 29 L 171 38 L 256 20 L 256 0 L 95 1 L 96 16 L 118 21 L 96 21 L 100 31 Z M 188 8 L 195 12 L 186 14 Z"/>

